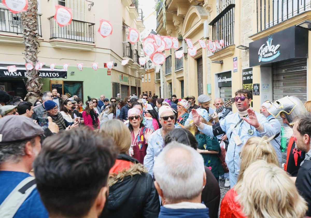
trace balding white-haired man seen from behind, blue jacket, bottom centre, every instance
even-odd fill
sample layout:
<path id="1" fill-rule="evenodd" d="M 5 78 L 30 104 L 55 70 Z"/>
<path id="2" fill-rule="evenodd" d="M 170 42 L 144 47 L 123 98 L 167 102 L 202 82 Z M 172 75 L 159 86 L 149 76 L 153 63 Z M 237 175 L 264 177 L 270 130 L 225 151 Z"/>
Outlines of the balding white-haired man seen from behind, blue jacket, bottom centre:
<path id="1" fill-rule="evenodd" d="M 209 217 L 201 203 L 206 184 L 202 156 L 193 148 L 172 142 L 159 154 L 154 165 L 155 187 L 162 198 L 159 218 Z"/>

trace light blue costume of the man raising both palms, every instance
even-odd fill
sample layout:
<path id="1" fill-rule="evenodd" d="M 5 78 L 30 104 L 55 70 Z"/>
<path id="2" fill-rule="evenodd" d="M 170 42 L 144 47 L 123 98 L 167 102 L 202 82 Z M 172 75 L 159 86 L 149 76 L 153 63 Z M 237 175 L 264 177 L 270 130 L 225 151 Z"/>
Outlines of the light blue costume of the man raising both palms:
<path id="1" fill-rule="evenodd" d="M 240 171 L 240 156 L 239 153 L 246 141 L 252 136 L 267 136 L 271 137 L 276 134 L 275 129 L 267 121 L 267 118 L 262 114 L 255 112 L 258 122 L 263 125 L 264 131 L 262 133 L 258 132 L 254 126 L 249 125 L 247 122 L 241 122 L 236 128 L 234 126 L 240 121 L 241 117 L 238 113 L 230 114 L 225 117 L 225 119 L 219 121 L 221 129 L 227 133 L 229 140 L 228 150 L 226 154 L 226 164 L 230 173 L 239 174 Z M 246 117 L 248 118 L 248 117 Z M 213 136 L 212 126 L 204 124 L 204 129 L 201 130 L 204 134 L 208 136 Z M 253 130 L 253 135 L 248 135 L 248 130 Z M 232 132 L 232 135 L 231 135 Z M 230 136 L 231 135 L 231 136 Z M 242 141 L 241 145 L 236 145 L 234 142 L 234 136 L 239 135 Z"/>

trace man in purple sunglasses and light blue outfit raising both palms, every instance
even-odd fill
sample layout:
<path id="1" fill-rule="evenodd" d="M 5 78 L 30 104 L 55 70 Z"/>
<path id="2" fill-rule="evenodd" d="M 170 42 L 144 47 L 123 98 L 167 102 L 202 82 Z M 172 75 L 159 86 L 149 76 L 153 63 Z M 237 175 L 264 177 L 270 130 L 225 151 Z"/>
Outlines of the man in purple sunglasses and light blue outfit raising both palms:
<path id="1" fill-rule="evenodd" d="M 276 135 L 276 130 L 262 114 L 253 111 L 250 107 L 251 92 L 247 89 L 240 89 L 235 92 L 235 106 L 238 112 L 227 115 L 213 126 L 200 122 L 200 115 L 192 110 L 193 122 L 200 131 L 208 136 L 217 136 L 227 133 L 229 140 L 226 154 L 226 164 L 229 168 L 230 187 L 237 182 L 240 171 L 240 152 L 246 141 L 253 136 Z"/>

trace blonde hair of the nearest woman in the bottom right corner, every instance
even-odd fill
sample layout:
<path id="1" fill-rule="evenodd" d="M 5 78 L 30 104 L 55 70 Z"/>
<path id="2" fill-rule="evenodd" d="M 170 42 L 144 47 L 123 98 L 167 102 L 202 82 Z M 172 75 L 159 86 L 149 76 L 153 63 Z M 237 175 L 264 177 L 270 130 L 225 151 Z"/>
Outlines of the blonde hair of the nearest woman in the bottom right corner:
<path id="1" fill-rule="evenodd" d="M 286 172 L 264 160 L 249 165 L 237 192 L 248 218 L 303 218 L 308 209 Z"/>

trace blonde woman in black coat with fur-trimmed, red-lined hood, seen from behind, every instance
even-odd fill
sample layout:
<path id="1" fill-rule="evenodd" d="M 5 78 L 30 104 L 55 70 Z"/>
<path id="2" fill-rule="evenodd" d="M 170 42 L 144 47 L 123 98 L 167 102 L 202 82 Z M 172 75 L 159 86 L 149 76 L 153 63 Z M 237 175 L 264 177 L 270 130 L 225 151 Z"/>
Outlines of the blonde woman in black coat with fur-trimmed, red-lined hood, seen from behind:
<path id="1" fill-rule="evenodd" d="M 103 123 L 100 131 L 111 136 L 120 151 L 109 171 L 108 210 L 100 217 L 158 217 L 159 195 L 144 165 L 128 155 L 131 147 L 130 130 L 114 119 Z"/>

